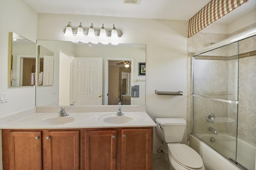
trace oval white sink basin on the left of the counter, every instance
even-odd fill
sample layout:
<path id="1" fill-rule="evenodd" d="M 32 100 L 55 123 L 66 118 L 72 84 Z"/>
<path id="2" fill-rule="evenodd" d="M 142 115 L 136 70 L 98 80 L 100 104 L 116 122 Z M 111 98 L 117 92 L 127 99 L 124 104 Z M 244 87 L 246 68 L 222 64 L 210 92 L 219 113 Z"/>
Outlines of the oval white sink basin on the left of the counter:
<path id="1" fill-rule="evenodd" d="M 51 118 L 41 120 L 40 123 L 44 125 L 62 125 L 62 124 L 70 123 L 74 121 L 75 116 L 80 117 L 79 115 L 51 117 Z"/>

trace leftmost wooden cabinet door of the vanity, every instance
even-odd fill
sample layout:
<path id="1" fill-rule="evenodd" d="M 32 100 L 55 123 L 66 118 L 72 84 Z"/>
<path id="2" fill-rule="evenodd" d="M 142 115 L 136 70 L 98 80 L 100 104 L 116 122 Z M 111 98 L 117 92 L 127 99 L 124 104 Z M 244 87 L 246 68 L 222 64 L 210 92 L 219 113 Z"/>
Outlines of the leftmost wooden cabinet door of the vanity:
<path id="1" fill-rule="evenodd" d="M 41 132 L 10 132 L 10 170 L 42 170 Z"/>

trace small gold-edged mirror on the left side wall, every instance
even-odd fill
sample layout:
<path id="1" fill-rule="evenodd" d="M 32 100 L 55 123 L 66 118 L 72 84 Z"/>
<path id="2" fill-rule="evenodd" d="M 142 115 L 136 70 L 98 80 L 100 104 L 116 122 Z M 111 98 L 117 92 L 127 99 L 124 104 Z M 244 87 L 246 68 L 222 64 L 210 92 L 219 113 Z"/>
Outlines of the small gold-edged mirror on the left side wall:
<path id="1" fill-rule="evenodd" d="M 9 33 L 10 87 L 34 86 L 36 77 L 36 43 L 14 33 Z"/>

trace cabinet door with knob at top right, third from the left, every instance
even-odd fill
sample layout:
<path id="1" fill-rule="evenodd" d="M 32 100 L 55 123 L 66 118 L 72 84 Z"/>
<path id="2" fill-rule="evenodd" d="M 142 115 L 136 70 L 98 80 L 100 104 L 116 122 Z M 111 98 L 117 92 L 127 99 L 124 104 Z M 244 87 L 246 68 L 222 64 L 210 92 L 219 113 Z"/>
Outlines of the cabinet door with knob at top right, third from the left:
<path id="1" fill-rule="evenodd" d="M 85 169 L 116 170 L 116 131 L 86 131 L 85 138 Z"/>

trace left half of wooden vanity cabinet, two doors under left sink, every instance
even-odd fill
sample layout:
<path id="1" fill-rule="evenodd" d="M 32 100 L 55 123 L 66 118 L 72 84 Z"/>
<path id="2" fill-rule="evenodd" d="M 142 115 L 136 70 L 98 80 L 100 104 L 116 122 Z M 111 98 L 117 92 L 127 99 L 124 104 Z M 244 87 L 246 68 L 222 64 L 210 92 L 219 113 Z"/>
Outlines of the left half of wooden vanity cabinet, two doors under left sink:
<path id="1" fill-rule="evenodd" d="M 80 131 L 2 129 L 4 170 L 79 170 Z"/>

